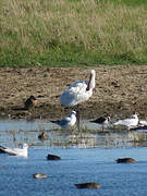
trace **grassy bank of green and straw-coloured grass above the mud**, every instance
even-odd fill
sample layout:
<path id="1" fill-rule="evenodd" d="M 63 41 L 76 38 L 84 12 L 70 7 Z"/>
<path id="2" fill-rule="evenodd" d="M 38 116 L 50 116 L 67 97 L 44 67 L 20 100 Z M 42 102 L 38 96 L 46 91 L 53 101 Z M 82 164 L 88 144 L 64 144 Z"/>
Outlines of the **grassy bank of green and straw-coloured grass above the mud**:
<path id="1" fill-rule="evenodd" d="M 146 4 L 1 0 L 0 65 L 147 63 Z"/>

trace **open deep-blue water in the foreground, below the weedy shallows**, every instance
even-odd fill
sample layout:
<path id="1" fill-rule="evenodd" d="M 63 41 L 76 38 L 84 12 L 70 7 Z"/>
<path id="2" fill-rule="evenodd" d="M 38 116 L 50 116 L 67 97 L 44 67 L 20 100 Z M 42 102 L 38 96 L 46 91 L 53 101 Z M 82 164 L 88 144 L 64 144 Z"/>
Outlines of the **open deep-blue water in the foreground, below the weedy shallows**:
<path id="1" fill-rule="evenodd" d="M 146 195 L 147 148 L 51 149 L 30 148 L 29 157 L 0 156 L 0 195 Z M 56 154 L 60 161 L 48 161 Z M 118 157 L 133 157 L 135 164 L 118 164 Z M 34 173 L 48 179 L 34 179 Z M 77 189 L 74 184 L 96 182 L 98 189 Z"/>

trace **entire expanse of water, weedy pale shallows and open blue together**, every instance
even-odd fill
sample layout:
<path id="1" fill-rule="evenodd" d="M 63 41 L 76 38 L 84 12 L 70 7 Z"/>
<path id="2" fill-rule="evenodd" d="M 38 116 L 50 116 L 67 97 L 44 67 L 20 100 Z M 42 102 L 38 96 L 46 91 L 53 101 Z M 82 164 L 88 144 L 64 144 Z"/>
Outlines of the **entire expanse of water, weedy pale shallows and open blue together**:
<path id="1" fill-rule="evenodd" d="M 100 127 L 84 121 L 84 128 L 61 131 L 58 126 L 40 120 L 0 121 L 0 144 L 32 145 L 28 158 L 0 155 L 0 196 L 124 196 L 146 195 L 147 147 L 146 131 L 98 133 Z M 86 126 L 86 127 L 85 127 Z M 39 140 L 45 131 L 48 140 Z M 139 140 L 136 142 L 136 140 Z M 138 147 L 139 146 L 139 147 Z M 48 161 L 48 154 L 61 157 Z M 118 164 L 115 159 L 132 157 L 137 162 Z M 48 179 L 34 179 L 34 173 L 45 173 Z M 77 189 L 74 184 L 96 182 L 98 189 Z"/>

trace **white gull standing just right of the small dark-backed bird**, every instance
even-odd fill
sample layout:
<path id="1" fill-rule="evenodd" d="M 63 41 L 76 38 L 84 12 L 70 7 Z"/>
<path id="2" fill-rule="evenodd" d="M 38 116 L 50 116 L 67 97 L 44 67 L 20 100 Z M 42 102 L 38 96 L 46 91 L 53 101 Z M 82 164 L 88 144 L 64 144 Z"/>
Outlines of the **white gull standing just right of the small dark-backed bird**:
<path id="1" fill-rule="evenodd" d="M 122 126 L 126 126 L 128 130 L 132 127 L 135 127 L 138 125 L 138 115 L 135 113 L 133 115 L 131 115 L 128 119 L 124 119 L 124 120 L 119 120 L 114 123 L 112 123 L 113 125 L 122 125 Z"/>

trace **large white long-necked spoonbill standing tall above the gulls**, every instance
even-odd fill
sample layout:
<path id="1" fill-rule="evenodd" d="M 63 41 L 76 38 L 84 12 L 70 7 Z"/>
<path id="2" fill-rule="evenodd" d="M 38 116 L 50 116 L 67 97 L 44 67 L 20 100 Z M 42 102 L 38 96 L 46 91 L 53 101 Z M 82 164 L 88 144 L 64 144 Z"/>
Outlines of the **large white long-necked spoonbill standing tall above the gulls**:
<path id="1" fill-rule="evenodd" d="M 64 107 L 77 106 L 77 126 L 79 130 L 79 111 L 78 105 L 81 102 L 87 101 L 91 95 L 93 89 L 95 88 L 96 82 L 96 72 L 95 70 L 90 71 L 89 81 L 76 81 L 71 86 L 69 86 L 60 96 L 60 103 Z"/>

